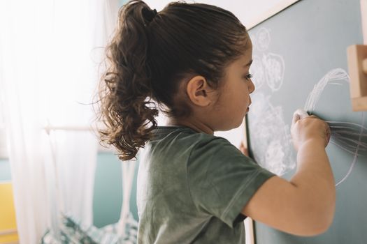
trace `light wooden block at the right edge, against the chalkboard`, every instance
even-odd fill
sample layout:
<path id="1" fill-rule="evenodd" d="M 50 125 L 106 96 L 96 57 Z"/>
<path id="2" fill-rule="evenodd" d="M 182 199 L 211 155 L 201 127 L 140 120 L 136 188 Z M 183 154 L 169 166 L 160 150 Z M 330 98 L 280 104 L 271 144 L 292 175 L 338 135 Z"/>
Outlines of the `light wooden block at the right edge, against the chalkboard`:
<path id="1" fill-rule="evenodd" d="M 350 75 L 350 97 L 367 96 L 367 73 L 364 73 L 364 60 L 367 59 L 367 45 L 352 45 L 347 48 Z"/>

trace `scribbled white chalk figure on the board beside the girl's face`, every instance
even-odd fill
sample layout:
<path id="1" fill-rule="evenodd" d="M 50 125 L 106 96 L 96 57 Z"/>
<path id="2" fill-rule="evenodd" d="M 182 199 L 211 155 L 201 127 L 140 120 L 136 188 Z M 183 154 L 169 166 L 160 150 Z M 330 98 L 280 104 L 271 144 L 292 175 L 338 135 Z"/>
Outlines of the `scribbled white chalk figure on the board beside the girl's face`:
<path id="1" fill-rule="evenodd" d="M 282 56 L 274 53 L 264 53 L 271 43 L 270 31 L 260 28 L 254 37 L 254 47 L 262 53 L 262 56 L 252 57 L 251 73 L 254 74 L 252 81 L 255 88 L 259 89 L 264 84 L 268 84 L 271 92 L 278 91 L 283 84 L 285 75 L 285 61 Z M 274 107 L 270 102 L 270 97 L 263 93 L 252 95 L 252 109 L 250 110 L 250 130 L 256 139 L 252 140 L 252 151 L 255 160 L 273 172 L 282 175 L 296 167 L 292 146 L 292 139 L 289 134 L 289 125 L 284 121 L 282 107 Z M 256 111 L 252 114 L 251 111 Z M 259 114 L 259 116 L 257 116 Z"/>

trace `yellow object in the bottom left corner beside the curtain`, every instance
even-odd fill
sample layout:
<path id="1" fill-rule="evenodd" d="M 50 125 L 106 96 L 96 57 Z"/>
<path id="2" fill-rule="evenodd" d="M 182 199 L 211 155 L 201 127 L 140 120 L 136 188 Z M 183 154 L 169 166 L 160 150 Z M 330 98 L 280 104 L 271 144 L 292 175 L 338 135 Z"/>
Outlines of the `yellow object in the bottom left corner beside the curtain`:
<path id="1" fill-rule="evenodd" d="M 13 187 L 11 183 L 0 183 L 0 244 L 18 241 Z"/>

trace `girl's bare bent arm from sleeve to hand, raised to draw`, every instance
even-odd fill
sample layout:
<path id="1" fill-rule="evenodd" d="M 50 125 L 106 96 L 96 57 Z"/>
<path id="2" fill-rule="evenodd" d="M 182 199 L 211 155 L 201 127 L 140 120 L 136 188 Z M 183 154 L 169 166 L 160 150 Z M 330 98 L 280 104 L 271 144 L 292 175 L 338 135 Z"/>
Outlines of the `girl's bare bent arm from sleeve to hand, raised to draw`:
<path id="1" fill-rule="evenodd" d="M 322 234 L 333 222 L 336 190 L 325 146 L 329 126 L 315 116 L 294 116 L 297 153 L 290 181 L 273 176 L 244 206 L 242 213 L 275 229 L 299 236 Z"/>

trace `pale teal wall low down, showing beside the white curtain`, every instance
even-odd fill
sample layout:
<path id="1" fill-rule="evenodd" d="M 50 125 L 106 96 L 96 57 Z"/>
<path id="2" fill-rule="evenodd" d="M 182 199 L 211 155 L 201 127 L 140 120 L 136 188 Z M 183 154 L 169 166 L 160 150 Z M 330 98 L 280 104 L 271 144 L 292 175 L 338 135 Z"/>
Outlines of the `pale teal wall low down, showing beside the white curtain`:
<path id="1" fill-rule="evenodd" d="M 93 220 L 96 227 L 113 224 L 120 218 L 122 204 L 122 162 L 113 153 L 99 153 L 94 181 Z M 136 165 L 133 188 L 131 189 L 130 211 L 138 220 L 136 208 Z M 8 160 L 0 160 L 0 181 L 10 181 Z"/>

